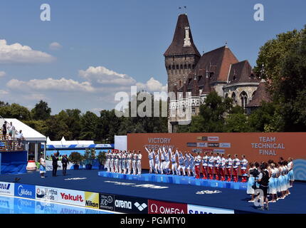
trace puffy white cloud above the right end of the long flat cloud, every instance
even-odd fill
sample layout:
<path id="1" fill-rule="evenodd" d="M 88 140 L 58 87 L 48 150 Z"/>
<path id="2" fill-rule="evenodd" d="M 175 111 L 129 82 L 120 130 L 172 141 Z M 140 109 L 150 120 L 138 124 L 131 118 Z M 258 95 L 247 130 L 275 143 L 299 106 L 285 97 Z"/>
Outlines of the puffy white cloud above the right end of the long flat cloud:
<path id="1" fill-rule="evenodd" d="M 90 66 L 85 71 L 79 71 L 79 76 L 95 84 L 132 86 L 136 81 L 126 74 L 111 71 L 104 66 Z"/>

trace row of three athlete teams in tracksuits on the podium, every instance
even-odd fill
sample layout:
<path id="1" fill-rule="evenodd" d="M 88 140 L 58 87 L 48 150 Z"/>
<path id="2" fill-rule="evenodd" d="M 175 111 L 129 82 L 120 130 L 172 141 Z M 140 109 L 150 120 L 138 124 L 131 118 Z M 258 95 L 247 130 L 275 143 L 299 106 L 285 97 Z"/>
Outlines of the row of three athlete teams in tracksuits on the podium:
<path id="1" fill-rule="evenodd" d="M 171 148 L 159 147 L 159 150 L 149 150 L 149 173 L 164 175 L 179 175 L 196 179 L 209 179 L 238 182 L 238 174 L 241 172 L 241 182 L 247 182 L 248 160 L 242 155 L 219 154 L 218 152 L 204 152 L 201 157 L 199 152 L 196 156 L 191 152 L 181 152 L 178 149 L 172 151 Z M 117 151 L 108 152 L 106 155 L 106 167 L 108 172 L 117 172 L 123 174 L 140 175 L 142 155 L 140 151 Z"/>

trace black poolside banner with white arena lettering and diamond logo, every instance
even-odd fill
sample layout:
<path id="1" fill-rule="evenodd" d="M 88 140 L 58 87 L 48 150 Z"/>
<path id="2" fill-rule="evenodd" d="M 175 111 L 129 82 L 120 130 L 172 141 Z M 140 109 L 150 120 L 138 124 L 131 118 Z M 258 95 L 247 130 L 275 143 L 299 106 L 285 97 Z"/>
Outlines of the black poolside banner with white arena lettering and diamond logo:
<path id="1" fill-rule="evenodd" d="M 115 212 L 128 214 L 147 214 L 147 199 L 115 195 Z"/>

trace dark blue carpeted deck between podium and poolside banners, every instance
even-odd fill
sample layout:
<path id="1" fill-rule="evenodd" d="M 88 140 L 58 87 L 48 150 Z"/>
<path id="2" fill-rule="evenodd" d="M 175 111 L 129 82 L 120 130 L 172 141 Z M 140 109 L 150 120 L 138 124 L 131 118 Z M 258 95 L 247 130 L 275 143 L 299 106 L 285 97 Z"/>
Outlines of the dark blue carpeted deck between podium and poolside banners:
<path id="1" fill-rule="evenodd" d="M 47 187 L 83 190 L 88 192 L 104 192 L 109 194 L 144 197 L 147 199 L 165 200 L 170 202 L 198 204 L 224 209 L 236 209 L 245 212 L 261 212 L 258 211 L 258 209 L 255 209 L 252 203 L 248 202 L 250 197 L 244 190 L 175 185 L 162 182 L 144 182 L 138 180 L 122 180 L 109 177 L 99 177 L 97 172 L 97 170 L 69 170 L 68 175 L 66 176 L 62 176 L 60 172 L 58 172 L 58 174 L 60 174 L 58 177 L 52 177 L 52 173 L 47 172 L 45 179 L 40 178 L 39 172 L 33 172 L 31 174 L 26 173 L 21 175 L 1 175 L 0 181 L 14 182 L 15 177 L 21 177 L 19 182 L 28 185 L 42 185 Z M 86 179 L 71 180 L 71 178 L 76 177 L 85 177 Z M 159 189 L 137 187 L 137 185 L 146 186 L 148 184 L 167 188 Z M 196 192 L 203 190 L 217 190 L 221 192 L 216 194 L 196 194 Z M 278 202 L 270 204 L 270 210 L 263 213 L 306 213 L 305 207 L 299 207 L 301 205 L 306 205 L 306 197 L 304 195 L 305 190 L 305 183 L 295 183 L 294 187 L 290 189 L 291 195 L 285 199 L 280 199 Z"/>

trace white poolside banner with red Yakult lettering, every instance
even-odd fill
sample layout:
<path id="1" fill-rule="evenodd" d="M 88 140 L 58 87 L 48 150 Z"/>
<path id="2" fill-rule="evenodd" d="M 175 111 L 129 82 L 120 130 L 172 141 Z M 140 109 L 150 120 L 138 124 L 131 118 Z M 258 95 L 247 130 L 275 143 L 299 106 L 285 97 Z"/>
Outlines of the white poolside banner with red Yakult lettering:
<path id="1" fill-rule="evenodd" d="M 85 207 L 85 192 L 65 189 L 58 189 L 58 192 L 58 202 Z"/>

